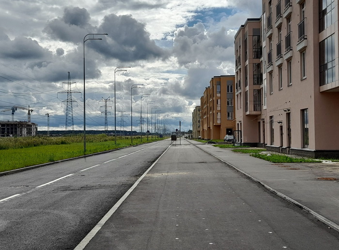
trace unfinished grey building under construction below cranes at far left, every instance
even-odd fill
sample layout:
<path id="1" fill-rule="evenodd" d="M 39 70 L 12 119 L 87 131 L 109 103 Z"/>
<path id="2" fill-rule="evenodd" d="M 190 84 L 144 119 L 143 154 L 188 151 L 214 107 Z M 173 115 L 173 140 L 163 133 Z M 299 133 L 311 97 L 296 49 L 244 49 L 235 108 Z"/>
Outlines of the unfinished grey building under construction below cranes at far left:
<path id="1" fill-rule="evenodd" d="M 0 121 L 0 137 L 36 136 L 38 125 L 31 122 Z"/>

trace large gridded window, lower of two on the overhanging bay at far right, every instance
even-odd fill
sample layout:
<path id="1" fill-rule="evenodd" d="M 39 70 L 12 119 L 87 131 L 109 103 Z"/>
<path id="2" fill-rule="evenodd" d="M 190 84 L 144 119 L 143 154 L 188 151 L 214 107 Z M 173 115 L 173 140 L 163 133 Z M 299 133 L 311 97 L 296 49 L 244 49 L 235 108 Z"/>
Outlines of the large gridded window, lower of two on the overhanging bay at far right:
<path id="1" fill-rule="evenodd" d="M 336 80 L 336 48 L 334 34 L 319 44 L 320 86 Z"/>

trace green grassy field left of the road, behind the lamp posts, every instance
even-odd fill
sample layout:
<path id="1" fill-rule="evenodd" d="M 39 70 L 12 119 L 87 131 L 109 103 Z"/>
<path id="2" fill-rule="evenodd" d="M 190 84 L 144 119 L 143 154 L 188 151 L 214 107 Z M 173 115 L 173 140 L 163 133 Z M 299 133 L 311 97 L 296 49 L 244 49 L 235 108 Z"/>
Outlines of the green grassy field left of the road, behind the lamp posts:
<path id="1" fill-rule="evenodd" d="M 141 142 L 140 137 L 133 137 L 133 145 L 145 142 L 146 138 Z M 117 137 L 115 145 L 114 137 L 87 135 L 86 155 L 131 145 L 130 137 Z M 0 172 L 84 155 L 81 135 L 59 138 L 1 138 L 0 149 Z"/>

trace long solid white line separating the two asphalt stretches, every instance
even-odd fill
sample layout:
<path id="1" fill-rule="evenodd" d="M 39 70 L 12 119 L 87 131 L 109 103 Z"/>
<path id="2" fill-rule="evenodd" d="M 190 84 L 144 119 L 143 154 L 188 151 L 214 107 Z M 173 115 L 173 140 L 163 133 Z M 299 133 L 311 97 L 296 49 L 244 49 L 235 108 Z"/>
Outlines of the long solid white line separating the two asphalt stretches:
<path id="1" fill-rule="evenodd" d="M 164 153 L 161 154 L 161 156 L 163 156 L 167 152 L 167 150 L 169 150 L 170 146 L 164 151 Z M 99 230 L 106 223 L 106 221 L 114 214 L 114 212 L 118 209 L 118 207 L 124 202 L 124 200 L 126 200 L 126 198 L 131 194 L 131 192 L 138 186 L 138 184 L 145 177 L 145 175 L 158 162 L 161 156 L 159 156 L 156 159 L 156 161 L 154 161 L 154 163 L 151 165 L 151 167 L 149 167 L 148 170 L 146 170 L 146 172 L 144 172 L 143 175 L 141 175 L 141 177 L 136 181 L 136 183 L 134 183 L 133 186 L 128 189 L 128 191 L 123 195 L 123 197 L 121 197 L 120 200 L 114 204 L 114 206 L 108 211 L 108 213 L 98 222 L 98 224 L 95 225 L 95 227 L 91 230 L 91 232 L 88 233 L 85 236 L 85 238 L 83 238 L 83 240 L 77 245 L 77 247 L 74 250 L 83 250 L 87 246 L 87 244 L 91 241 L 91 239 L 95 236 L 95 234 L 99 232 Z"/>

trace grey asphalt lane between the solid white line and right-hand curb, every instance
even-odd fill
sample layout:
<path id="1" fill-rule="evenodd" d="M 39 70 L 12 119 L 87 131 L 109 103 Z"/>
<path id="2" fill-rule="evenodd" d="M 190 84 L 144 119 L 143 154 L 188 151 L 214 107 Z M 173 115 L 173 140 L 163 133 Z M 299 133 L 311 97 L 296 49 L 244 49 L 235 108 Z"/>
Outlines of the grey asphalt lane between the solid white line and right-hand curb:
<path id="1" fill-rule="evenodd" d="M 85 250 L 337 250 L 338 232 L 183 140 Z"/>

